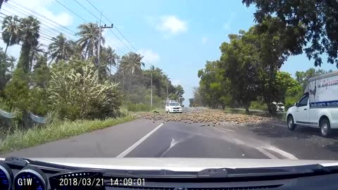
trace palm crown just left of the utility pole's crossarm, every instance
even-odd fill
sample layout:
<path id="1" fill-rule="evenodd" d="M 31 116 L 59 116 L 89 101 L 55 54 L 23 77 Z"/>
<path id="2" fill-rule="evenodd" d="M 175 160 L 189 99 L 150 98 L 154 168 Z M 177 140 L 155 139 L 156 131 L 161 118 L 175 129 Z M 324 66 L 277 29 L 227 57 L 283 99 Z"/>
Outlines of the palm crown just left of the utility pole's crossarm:
<path id="1" fill-rule="evenodd" d="M 77 40 L 77 44 L 81 46 L 81 50 L 85 51 L 85 57 L 90 58 L 93 55 L 97 55 L 99 47 L 100 31 L 99 26 L 95 23 L 85 23 L 78 27 L 80 32 L 77 35 L 80 39 Z M 101 36 L 101 45 L 104 45 L 105 39 Z"/>

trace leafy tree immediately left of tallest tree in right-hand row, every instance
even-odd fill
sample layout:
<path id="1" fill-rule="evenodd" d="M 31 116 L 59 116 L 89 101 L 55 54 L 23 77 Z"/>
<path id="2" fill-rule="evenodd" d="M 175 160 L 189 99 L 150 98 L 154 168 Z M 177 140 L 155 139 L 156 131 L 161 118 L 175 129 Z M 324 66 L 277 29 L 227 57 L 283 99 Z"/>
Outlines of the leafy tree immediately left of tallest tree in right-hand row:
<path id="1" fill-rule="evenodd" d="M 240 31 L 239 35 L 230 35 L 230 43 L 220 46 L 222 56 L 220 65 L 224 75 L 230 80 L 230 94 L 249 113 L 251 101 L 257 99 L 260 91 L 258 72 L 258 51 L 249 43 L 250 32 Z"/>

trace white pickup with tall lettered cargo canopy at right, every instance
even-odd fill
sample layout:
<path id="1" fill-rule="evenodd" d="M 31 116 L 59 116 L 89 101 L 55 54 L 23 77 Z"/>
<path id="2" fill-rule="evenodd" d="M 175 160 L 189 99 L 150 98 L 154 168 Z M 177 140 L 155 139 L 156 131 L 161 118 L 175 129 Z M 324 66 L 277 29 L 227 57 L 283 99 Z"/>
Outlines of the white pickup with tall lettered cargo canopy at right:
<path id="1" fill-rule="evenodd" d="M 338 71 L 308 80 L 304 96 L 287 110 L 287 127 L 297 125 L 320 128 L 323 137 L 338 128 Z"/>

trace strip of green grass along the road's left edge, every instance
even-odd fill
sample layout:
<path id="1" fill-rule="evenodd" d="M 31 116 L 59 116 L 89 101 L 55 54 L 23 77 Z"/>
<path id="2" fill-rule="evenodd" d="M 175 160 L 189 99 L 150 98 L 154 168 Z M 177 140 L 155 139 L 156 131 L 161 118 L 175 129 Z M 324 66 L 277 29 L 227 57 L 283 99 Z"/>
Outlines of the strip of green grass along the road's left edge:
<path id="1" fill-rule="evenodd" d="M 56 121 L 47 125 L 33 127 L 32 129 L 16 129 L 0 141 L 0 153 L 16 151 L 21 148 L 37 146 L 97 129 L 104 129 L 123 122 L 129 122 L 135 118 L 137 118 L 137 115 L 128 113 L 120 118 L 107 118 L 106 120 Z"/>

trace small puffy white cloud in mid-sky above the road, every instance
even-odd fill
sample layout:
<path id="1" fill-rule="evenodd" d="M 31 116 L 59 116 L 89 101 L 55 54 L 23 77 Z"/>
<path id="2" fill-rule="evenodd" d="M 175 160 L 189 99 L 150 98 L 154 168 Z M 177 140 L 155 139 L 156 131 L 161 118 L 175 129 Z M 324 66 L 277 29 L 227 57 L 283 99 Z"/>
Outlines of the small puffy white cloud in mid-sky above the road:
<path id="1" fill-rule="evenodd" d="M 160 18 L 156 28 L 169 34 L 180 34 L 187 32 L 187 22 L 180 20 L 175 15 L 165 15 Z"/>

